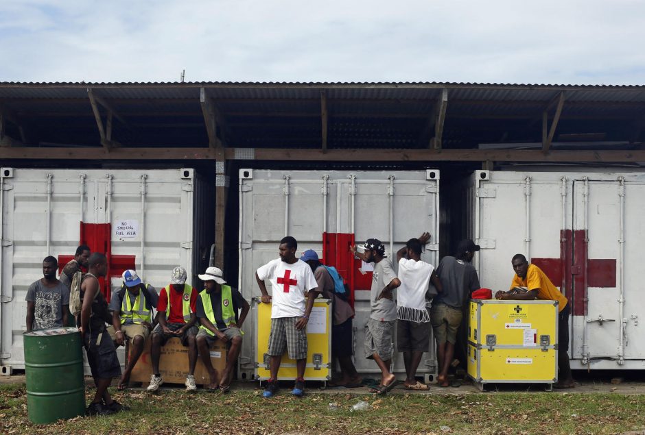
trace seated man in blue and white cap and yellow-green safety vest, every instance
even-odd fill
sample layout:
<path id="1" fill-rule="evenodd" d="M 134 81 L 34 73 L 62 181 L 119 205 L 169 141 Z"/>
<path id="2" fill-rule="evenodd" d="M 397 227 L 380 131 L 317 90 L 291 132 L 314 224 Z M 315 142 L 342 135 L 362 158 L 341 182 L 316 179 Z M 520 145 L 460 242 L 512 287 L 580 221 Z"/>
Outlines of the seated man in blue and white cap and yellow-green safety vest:
<path id="1" fill-rule="evenodd" d="M 145 340 L 148 340 L 152 331 L 152 309 L 156 308 L 159 295 L 150 284 L 141 281 L 136 271 L 131 269 L 123 273 L 124 283 L 121 290 L 112 293 L 110 310 L 114 316 L 114 325 L 121 325 L 118 330 L 114 326 L 107 328 L 108 334 L 115 345 L 123 345 L 126 340 L 130 342 L 130 356 L 121 380 L 119 390 L 125 390 L 130 381 L 130 374 L 143 352 Z"/>

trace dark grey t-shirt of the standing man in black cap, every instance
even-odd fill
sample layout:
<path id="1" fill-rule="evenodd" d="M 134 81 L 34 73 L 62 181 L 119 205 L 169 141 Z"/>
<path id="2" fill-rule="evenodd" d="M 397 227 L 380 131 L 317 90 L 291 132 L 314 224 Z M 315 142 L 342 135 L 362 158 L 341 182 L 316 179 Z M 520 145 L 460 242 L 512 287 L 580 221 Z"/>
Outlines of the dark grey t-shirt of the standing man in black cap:
<path id="1" fill-rule="evenodd" d="M 461 309 L 473 291 L 480 288 L 475 266 L 454 257 L 444 257 L 436 269 L 443 292 L 434 297 L 433 305 L 445 303 L 452 308 Z"/>

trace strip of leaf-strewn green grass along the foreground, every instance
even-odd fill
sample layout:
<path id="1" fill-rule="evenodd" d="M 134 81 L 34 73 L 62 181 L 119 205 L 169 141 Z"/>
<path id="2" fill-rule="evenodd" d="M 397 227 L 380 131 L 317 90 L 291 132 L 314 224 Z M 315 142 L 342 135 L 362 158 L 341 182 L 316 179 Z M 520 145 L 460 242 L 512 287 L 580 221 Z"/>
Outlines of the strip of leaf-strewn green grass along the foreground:
<path id="1" fill-rule="evenodd" d="M 88 398 L 92 391 L 88 391 Z M 115 393 L 132 407 L 110 417 L 78 418 L 51 425 L 27 419 L 24 385 L 0 386 L 2 434 L 597 434 L 642 430 L 645 397 L 617 394 L 484 393 L 456 395 L 373 395 L 312 393 L 290 397 L 287 389 L 273 399 L 260 390 L 189 394 L 163 390 Z M 372 404 L 350 412 L 362 399 Z M 329 410 L 329 403 L 338 410 Z"/>

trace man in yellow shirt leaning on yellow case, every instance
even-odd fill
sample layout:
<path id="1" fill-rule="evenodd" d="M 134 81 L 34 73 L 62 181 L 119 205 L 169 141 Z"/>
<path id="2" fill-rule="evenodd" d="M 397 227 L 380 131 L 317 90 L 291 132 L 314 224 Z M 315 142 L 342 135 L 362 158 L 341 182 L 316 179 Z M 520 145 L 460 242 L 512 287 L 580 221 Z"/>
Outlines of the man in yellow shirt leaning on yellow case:
<path id="1" fill-rule="evenodd" d="M 571 306 L 565 295 L 553 285 L 551 280 L 535 264 L 529 264 L 526 257 L 521 253 L 515 254 L 513 260 L 513 271 L 515 276 L 511 282 L 511 290 L 508 292 L 498 291 L 495 299 L 515 299 L 530 301 L 532 299 L 546 299 L 558 301 L 558 369 L 559 380 L 554 388 L 573 388 L 574 380 L 571 376 L 569 364 L 569 315 Z M 526 291 L 517 288 L 526 288 Z"/>

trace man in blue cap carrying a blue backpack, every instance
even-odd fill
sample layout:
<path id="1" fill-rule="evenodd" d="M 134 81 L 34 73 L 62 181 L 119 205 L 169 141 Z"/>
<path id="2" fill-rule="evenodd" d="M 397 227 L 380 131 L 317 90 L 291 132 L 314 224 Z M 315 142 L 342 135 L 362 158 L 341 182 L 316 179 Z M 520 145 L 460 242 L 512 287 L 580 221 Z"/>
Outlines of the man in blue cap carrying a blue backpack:
<path id="1" fill-rule="evenodd" d="M 357 373 L 352 355 L 352 318 L 354 310 L 347 301 L 349 294 L 336 268 L 325 266 L 318 259 L 313 249 L 307 249 L 300 258 L 312 268 L 314 278 L 318 283 L 318 293 L 331 299 L 331 358 L 338 358 L 340 377 L 327 382 L 328 386 L 344 386 L 355 388 L 361 385 L 361 377 Z"/>

